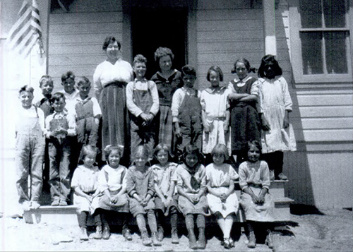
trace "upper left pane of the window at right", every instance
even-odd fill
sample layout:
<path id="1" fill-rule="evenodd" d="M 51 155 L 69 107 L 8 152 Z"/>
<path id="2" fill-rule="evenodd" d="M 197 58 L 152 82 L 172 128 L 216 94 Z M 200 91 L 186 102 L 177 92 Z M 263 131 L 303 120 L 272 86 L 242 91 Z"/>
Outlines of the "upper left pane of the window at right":
<path id="1" fill-rule="evenodd" d="M 321 0 L 300 1 L 301 28 L 321 28 Z"/>

